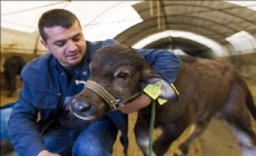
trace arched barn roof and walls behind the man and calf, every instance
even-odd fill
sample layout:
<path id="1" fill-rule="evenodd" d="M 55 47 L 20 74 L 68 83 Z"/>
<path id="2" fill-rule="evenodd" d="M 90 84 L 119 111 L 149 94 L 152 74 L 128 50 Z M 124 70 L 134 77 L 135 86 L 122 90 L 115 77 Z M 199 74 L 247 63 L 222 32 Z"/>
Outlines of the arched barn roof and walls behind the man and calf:
<path id="1" fill-rule="evenodd" d="M 1 71 L 7 56 L 29 61 L 47 52 L 37 21 L 53 8 L 74 12 L 90 41 L 114 38 L 135 48 L 230 62 L 250 83 L 255 101 L 255 1 L 1 1 Z M 4 84 L 1 78 L 1 105 L 16 100 L 22 82 L 12 98 Z"/>

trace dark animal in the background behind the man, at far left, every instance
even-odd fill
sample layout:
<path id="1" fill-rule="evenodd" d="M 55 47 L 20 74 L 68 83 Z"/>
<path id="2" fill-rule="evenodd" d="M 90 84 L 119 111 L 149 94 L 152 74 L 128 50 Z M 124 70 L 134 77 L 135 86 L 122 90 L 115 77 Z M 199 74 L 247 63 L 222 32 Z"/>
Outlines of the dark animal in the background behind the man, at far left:
<path id="1" fill-rule="evenodd" d="M 4 61 L 4 80 L 7 84 L 8 97 L 12 97 L 16 90 L 16 76 L 21 74 L 21 69 L 26 62 L 20 56 L 10 56 Z"/>

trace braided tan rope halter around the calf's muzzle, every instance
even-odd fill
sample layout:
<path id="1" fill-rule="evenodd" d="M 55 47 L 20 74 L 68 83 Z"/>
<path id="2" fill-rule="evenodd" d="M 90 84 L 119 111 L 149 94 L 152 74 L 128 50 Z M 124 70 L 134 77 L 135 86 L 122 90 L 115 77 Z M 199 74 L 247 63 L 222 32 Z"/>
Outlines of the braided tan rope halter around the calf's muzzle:
<path id="1" fill-rule="evenodd" d="M 111 109 L 116 110 L 117 107 L 123 106 L 124 104 L 132 101 L 132 99 L 137 98 L 141 93 L 137 92 L 135 95 L 131 96 L 130 98 L 122 101 L 120 98 L 114 98 L 111 93 L 103 88 L 103 86 L 97 82 L 87 80 L 87 82 L 84 81 L 78 81 L 76 80 L 76 84 L 78 85 L 79 83 L 85 84 L 85 88 L 89 90 L 93 90 L 98 96 L 103 98 L 103 100 L 111 106 Z"/>

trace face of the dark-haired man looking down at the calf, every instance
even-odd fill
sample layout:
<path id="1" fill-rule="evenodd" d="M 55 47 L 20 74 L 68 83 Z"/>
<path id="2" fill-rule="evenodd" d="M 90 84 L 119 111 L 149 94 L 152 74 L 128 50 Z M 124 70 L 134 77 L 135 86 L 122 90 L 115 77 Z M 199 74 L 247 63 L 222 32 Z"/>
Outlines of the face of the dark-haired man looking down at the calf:
<path id="1" fill-rule="evenodd" d="M 48 35 L 46 41 L 41 43 L 50 51 L 62 66 L 76 66 L 86 53 L 87 44 L 82 28 L 76 21 L 70 28 L 60 26 L 45 27 Z"/>

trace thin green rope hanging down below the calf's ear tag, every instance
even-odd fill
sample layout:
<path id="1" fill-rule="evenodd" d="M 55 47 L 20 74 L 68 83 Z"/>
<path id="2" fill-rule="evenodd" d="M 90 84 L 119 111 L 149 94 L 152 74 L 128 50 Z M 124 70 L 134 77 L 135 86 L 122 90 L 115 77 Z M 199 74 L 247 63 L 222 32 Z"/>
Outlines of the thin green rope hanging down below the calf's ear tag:
<path id="1" fill-rule="evenodd" d="M 155 101 L 153 100 L 152 107 L 151 107 L 151 120 L 150 120 L 150 129 L 149 129 L 149 144 L 148 144 L 149 156 L 152 156 L 152 152 L 153 152 L 154 120 L 155 120 Z"/>

